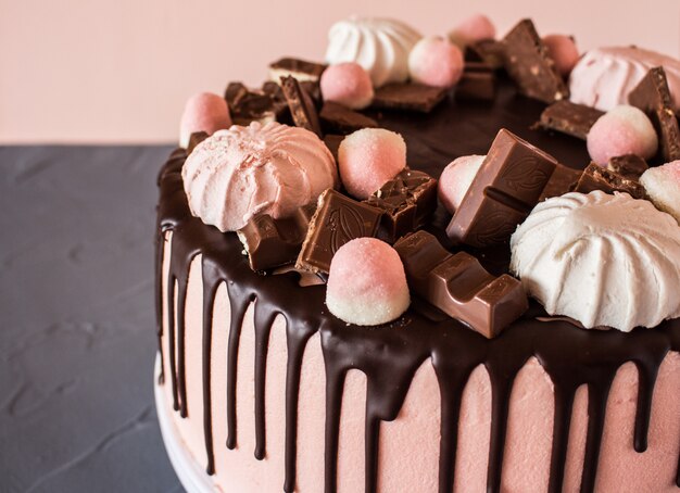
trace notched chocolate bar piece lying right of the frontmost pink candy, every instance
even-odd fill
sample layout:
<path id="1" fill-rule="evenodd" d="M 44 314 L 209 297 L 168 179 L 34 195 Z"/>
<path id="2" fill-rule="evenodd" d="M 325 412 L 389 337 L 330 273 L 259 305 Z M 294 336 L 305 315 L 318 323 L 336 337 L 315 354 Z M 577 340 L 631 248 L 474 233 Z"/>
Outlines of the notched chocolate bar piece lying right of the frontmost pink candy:
<path id="1" fill-rule="evenodd" d="M 488 339 L 529 307 L 521 282 L 492 276 L 468 253 L 451 254 L 429 232 L 404 237 L 394 249 L 413 291 Z"/>

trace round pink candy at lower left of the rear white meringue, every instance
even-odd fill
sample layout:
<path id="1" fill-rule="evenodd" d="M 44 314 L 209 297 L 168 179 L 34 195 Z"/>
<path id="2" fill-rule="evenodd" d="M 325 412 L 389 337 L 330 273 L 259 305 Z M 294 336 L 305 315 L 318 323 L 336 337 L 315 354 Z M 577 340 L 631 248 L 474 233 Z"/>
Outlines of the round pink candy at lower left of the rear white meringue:
<path id="1" fill-rule="evenodd" d="M 330 65 L 319 81 L 325 101 L 335 101 L 352 110 L 362 110 L 373 101 L 373 83 L 358 63 Z"/>

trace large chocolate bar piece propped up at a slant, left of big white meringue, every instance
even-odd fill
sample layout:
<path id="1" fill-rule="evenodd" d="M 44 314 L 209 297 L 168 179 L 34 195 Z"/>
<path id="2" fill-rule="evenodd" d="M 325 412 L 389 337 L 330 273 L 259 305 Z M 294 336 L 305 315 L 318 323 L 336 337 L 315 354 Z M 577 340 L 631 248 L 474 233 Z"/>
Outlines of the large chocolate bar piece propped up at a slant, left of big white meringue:
<path id="1" fill-rule="evenodd" d="M 562 168 L 553 156 L 501 129 L 446 235 L 454 243 L 478 248 L 507 241 L 545 197 L 544 190 L 556 169 Z M 555 188 L 553 193 L 567 191 Z"/>

